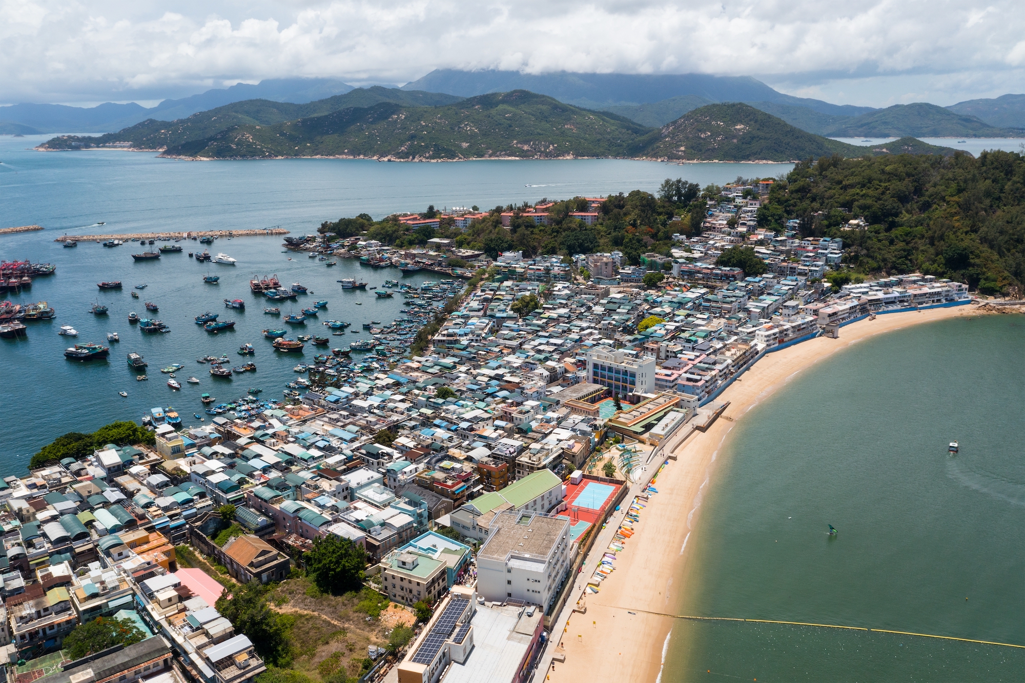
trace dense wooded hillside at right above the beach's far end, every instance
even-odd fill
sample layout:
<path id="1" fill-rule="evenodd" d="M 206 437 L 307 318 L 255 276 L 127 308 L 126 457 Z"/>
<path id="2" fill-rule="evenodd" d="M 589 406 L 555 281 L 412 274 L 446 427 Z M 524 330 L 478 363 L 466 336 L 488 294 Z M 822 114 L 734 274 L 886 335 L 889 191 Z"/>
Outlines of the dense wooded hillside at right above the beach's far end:
<path id="1" fill-rule="evenodd" d="M 986 294 L 1025 282 L 1025 157 L 1010 152 L 842 159 L 797 164 L 773 185 L 758 223 L 842 237 L 864 274 L 921 272 Z M 842 231 L 852 216 L 867 230 Z"/>

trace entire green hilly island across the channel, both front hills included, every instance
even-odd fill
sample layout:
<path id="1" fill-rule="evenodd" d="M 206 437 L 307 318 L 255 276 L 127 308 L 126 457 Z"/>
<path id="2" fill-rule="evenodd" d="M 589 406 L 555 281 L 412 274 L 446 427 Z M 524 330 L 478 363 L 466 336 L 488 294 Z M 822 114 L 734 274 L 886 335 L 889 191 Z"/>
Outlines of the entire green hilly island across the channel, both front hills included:
<path id="1" fill-rule="evenodd" d="M 527 90 L 460 98 L 391 88 L 353 90 L 304 105 L 245 101 L 173 122 L 149 119 L 116 133 L 61 135 L 37 149 L 96 148 L 194 160 L 388 161 L 612 157 L 785 162 L 955 152 L 914 138 L 878 148 L 847 145 L 739 103 L 699 107 L 653 128 Z"/>

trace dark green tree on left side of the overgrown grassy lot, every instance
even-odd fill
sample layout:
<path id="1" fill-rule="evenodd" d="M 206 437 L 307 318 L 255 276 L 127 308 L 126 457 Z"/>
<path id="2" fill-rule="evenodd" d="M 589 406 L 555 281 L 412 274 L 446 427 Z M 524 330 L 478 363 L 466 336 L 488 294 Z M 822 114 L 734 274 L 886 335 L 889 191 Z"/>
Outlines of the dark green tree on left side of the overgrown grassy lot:
<path id="1" fill-rule="evenodd" d="M 287 667 L 291 661 L 289 633 L 293 616 L 279 614 L 266 604 L 270 589 L 258 580 L 249 581 L 232 591 L 224 591 L 214 605 L 220 615 L 232 622 L 236 633 L 245 634 L 266 664 Z"/>

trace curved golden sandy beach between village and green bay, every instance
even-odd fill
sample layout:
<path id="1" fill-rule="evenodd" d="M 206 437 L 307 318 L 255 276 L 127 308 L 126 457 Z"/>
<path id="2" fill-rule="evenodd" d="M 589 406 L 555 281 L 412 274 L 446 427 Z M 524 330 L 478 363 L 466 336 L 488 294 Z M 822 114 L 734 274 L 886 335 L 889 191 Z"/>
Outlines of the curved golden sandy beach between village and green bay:
<path id="1" fill-rule="evenodd" d="M 717 456 L 726 453 L 727 436 L 748 410 L 802 370 L 861 339 L 976 315 L 982 313 L 970 305 L 862 320 L 843 327 L 838 339 L 816 337 L 769 354 L 735 380 L 719 398 L 730 402 L 723 417 L 707 432 L 694 432 L 683 443 L 670 444 L 678 459 L 669 460 L 659 475 L 655 484 L 659 492 L 651 497 L 634 535 L 618 555 L 616 570 L 603 581 L 601 593 L 586 598 L 586 613 L 570 617 L 562 634 L 563 648 L 557 650 L 565 653 L 566 660 L 556 662 L 549 680 L 589 680 L 597 672 L 610 681 L 658 679 L 674 621 L 669 615 L 675 613 L 680 596 L 691 582 L 687 547 L 693 540 L 691 530 L 697 527 L 703 492 L 715 476 Z M 588 563 L 584 573 L 592 571 Z M 559 636 L 552 634 L 552 639 Z"/>

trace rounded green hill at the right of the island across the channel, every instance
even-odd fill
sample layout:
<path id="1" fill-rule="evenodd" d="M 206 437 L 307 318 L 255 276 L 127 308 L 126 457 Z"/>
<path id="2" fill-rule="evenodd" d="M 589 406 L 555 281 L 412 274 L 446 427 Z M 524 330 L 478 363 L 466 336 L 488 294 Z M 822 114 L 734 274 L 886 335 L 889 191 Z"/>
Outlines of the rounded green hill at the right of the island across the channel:
<path id="1" fill-rule="evenodd" d="M 708 105 L 659 131 L 644 156 L 694 161 L 792 161 L 839 154 L 865 155 L 865 148 L 813 135 L 750 105 Z"/>

